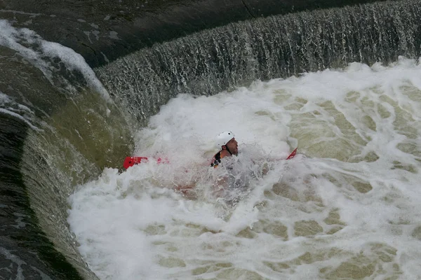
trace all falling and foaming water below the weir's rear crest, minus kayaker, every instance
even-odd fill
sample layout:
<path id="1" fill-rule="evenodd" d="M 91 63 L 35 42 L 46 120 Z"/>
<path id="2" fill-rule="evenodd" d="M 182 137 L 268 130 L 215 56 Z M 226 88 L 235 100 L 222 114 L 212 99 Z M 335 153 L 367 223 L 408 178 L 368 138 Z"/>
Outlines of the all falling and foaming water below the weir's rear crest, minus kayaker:
<path id="1" fill-rule="evenodd" d="M 416 279 L 420 67 L 399 55 L 420 55 L 419 22 L 417 1 L 272 16 L 93 71 L 0 22 L 1 275 Z M 224 200 L 208 162 L 227 129 L 250 188 Z M 119 174 L 133 144 L 171 165 Z"/>

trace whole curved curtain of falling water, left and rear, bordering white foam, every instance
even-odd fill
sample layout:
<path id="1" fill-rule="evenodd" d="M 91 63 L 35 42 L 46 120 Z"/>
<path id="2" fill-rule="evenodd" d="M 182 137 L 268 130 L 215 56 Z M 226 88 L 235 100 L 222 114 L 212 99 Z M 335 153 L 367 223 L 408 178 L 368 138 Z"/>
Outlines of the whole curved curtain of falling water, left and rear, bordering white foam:
<path id="1" fill-rule="evenodd" d="M 419 57 L 419 4 L 257 18 L 156 44 L 93 69 L 109 96 L 76 53 L 9 20 L 0 31 L 0 278 L 96 279 L 68 229 L 67 197 L 120 167 L 132 132 L 171 97 Z"/>

